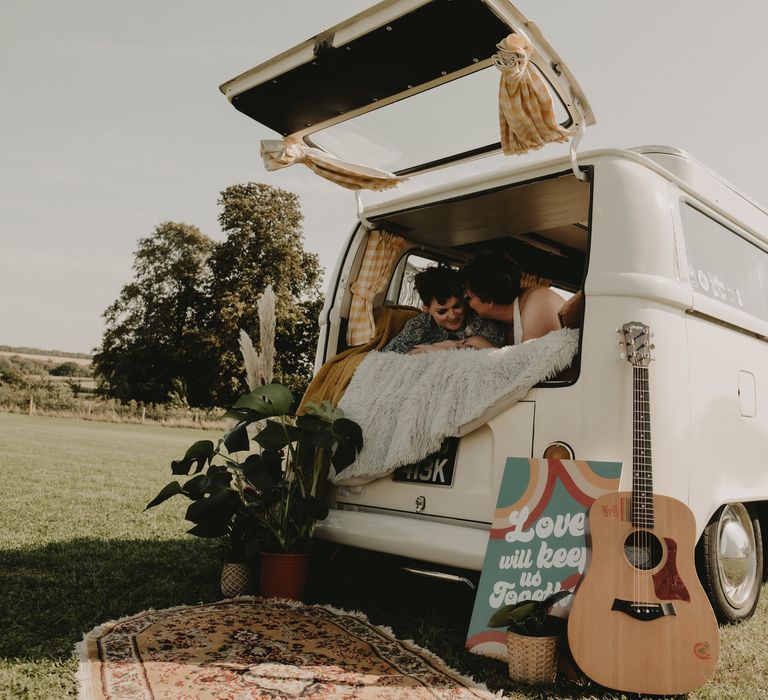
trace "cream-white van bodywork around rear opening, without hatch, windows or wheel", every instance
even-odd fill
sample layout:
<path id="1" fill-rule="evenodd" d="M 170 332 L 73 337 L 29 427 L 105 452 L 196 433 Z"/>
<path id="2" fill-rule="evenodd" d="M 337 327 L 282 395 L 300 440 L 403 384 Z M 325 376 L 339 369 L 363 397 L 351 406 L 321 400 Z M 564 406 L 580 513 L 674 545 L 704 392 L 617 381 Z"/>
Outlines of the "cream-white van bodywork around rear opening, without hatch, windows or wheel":
<path id="1" fill-rule="evenodd" d="M 768 213 L 682 152 L 645 151 L 579 157 L 591 171 L 592 190 L 576 381 L 536 387 L 463 435 L 450 488 L 389 477 L 340 487 L 337 510 L 318 524 L 318 535 L 479 569 L 507 457 L 540 457 L 555 441 L 570 445 L 577 459 L 622 462 L 620 488 L 631 490 L 632 367 L 620 355 L 616 333 L 628 321 L 645 323 L 654 334 L 654 490 L 688 504 L 699 534 L 721 505 L 768 499 L 768 470 L 758 457 L 768 444 L 768 321 L 693 290 L 680 207 L 695 204 L 763 251 Z M 377 203 L 364 216 L 375 222 L 569 167 L 558 159 L 508 168 Z M 318 366 L 333 354 L 334 343 L 327 341 L 341 337 L 349 281 L 364 245 L 358 227 L 330 280 Z M 420 498 L 425 505 L 417 510 Z"/>

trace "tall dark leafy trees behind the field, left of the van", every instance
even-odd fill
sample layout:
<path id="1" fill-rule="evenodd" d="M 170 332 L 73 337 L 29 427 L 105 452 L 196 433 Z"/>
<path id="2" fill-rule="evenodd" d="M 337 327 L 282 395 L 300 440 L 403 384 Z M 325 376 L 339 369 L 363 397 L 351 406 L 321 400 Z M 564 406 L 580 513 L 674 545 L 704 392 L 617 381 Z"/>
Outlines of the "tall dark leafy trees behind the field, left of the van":
<path id="1" fill-rule="evenodd" d="M 295 396 L 312 376 L 320 264 L 303 247 L 298 197 L 247 183 L 221 192 L 215 241 L 168 221 L 141 238 L 133 279 L 104 312 L 99 391 L 121 401 L 227 406 L 245 388 L 239 332 L 258 342 L 256 300 L 277 297 L 275 375 Z"/>

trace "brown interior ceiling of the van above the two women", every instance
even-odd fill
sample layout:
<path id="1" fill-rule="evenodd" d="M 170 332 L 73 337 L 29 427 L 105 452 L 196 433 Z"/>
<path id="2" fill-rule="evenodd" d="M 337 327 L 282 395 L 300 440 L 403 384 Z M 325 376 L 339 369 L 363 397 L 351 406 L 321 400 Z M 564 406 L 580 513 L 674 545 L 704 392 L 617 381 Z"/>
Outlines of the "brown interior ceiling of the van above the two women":
<path id="1" fill-rule="evenodd" d="M 371 222 L 451 258 L 503 250 L 525 272 L 575 291 L 585 273 L 590 187 L 569 171 L 394 211 Z"/>

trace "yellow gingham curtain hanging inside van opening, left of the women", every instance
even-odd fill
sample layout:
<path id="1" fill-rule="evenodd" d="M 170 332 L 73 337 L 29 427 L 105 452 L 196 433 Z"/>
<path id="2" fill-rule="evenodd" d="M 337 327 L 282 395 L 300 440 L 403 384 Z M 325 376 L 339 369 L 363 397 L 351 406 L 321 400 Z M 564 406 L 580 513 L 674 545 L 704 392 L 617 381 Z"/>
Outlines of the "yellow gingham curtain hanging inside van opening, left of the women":
<path id="1" fill-rule="evenodd" d="M 352 284 L 352 306 L 349 311 L 347 344 L 362 345 L 373 338 L 373 300 L 389 281 L 392 265 L 405 247 L 405 239 L 386 231 L 371 231 L 365 247 L 363 264 Z"/>

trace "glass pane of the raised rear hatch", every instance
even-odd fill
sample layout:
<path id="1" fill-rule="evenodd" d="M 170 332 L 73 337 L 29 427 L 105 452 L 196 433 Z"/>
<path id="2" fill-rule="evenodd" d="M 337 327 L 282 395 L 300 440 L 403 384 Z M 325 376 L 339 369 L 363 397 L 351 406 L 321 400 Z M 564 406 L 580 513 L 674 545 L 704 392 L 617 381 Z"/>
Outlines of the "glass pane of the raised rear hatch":
<path id="1" fill-rule="evenodd" d="M 556 119 L 568 123 L 565 107 L 550 94 Z M 498 144 L 499 71 L 484 68 L 329 126 L 310 140 L 338 158 L 391 172 Z"/>

